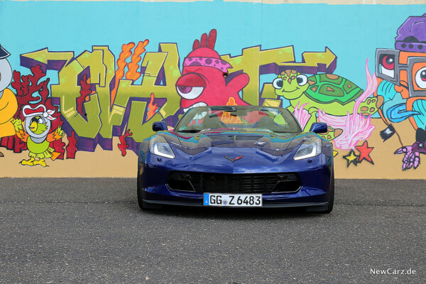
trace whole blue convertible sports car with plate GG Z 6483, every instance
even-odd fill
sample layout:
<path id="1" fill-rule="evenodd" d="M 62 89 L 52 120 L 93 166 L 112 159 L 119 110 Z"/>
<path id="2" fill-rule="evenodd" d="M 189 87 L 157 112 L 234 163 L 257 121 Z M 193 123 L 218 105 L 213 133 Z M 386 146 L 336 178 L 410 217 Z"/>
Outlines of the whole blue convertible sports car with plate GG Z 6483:
<path id="1" fill-rule="evenodd" d="M 314 123 L 302 132 L 278 107 L 194 107 L 155 135 L 138 155 L 138 204 L 200 207 L 305 207 L 332 212 L 332 143 Z"/>

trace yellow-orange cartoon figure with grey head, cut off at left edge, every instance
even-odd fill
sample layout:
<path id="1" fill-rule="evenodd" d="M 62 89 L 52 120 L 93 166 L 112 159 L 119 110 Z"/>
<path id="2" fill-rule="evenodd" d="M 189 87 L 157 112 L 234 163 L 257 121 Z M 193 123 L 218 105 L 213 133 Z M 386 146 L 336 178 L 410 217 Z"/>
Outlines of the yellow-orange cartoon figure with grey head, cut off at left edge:
<path id="1" fill-rule="evenodd" d="M 9 55 L 0 45 L 0 138 L 15 135 L 12 120 L 18 110 L 15 94 L 7 89 L 12 81 L 12 67 L 6 59 Z"/>

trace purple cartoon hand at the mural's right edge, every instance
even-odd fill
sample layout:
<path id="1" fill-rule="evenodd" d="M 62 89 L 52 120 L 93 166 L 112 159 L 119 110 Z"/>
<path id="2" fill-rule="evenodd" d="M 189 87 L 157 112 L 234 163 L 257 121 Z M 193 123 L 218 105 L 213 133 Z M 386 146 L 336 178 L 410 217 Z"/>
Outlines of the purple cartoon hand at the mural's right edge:
<path id="1" fill-rule="evenodd" d="M 403 170 L 417 168 L 420 165 L 420 153 L 426 154 L 426 129 L 417 129 L 415 143 L 412 146 L 403 146 L 395 151 L 395 154 L 405 154 Z"/>

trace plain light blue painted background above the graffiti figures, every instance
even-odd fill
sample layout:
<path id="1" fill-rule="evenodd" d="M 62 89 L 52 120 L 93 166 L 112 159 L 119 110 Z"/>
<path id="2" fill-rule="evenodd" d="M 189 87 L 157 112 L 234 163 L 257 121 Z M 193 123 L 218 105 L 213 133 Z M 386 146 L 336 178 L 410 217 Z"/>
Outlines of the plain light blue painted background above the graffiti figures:
<path id="1" fill-rule="evenodd" d="M 119 55 L 123 43 L 148 38 L 148 51 L 178 43 L 187 55 L 195 38 L 216 28 L 221 55 L 239 55 L 253 45 L 294 45 L 298 61 L 301 53 L 327 46 L 338 57 L 335 73 L 361 84 L 366 58 L 373 72 L 376 48 L 393 48 L 397 28 L 422 13 L 426 6 L 6 0 L 0 3 L 0 43 L 19 70 L 18 54 L 45 47 L 78 54 L 109 45 Z"/>

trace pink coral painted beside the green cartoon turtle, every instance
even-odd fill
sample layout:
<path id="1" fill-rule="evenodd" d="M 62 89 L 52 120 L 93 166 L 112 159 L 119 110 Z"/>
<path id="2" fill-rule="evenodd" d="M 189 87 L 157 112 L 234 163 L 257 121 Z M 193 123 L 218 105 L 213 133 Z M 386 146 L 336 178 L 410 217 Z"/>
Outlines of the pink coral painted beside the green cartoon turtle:
<path id="1" fill-rule="evenodd" d="M 358 113 L 361 102 L 364 102 L 377 89 L 376 73 L 373 73 L 373 77 L 371 77 L 368 71 L 368 59 L 366 62 L 366 77 L 367 87 L 356 100 L 353 114 L 349 114 L 348 111 L 347 116 L 333 116 L 326 114 L 323 110 L 318 111 L 319 121 L 327 123 L 327 125 L 332 126 L 334 129 L 343 130 L 343 133 L 334 139 L 334 146 L 344 151 L 354 149 L 359 141 L 366 140 L 375 129 L 375 126 L 371 125 L 371 115 L 364 117 Z"/>

